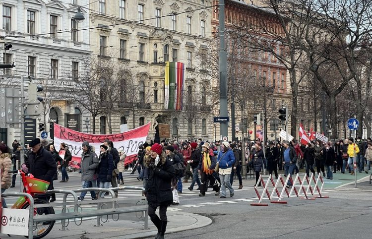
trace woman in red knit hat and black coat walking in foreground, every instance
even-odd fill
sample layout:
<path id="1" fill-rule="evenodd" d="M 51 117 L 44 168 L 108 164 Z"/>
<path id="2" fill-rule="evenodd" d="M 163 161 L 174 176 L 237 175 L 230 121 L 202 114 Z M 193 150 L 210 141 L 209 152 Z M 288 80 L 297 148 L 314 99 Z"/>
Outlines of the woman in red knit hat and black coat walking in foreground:
<path id="1" fill-rule="evenodd" d="M 171 181 L 175 177 L 173 163 L 166 159 L 163 146 L 155 143 L 151 146 L 150 157 L 148 158 L 147 184 L 145 196 L 148 202 L 148 215 L 158 229 L 156 238 L 164 239 L 167 228 L 167 208 L 173 202 Z M 159 207 L 159 215 L 156 215 L 156 208 Z"/>

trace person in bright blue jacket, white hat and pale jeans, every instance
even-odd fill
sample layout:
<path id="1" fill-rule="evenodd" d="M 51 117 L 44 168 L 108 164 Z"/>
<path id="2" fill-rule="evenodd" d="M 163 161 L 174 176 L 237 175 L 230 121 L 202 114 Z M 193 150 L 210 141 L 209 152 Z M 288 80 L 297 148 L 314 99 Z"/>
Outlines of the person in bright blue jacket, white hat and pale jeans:
<path id="1" fill-rule="evenodd" d="M 221 196 L 226 198 L 226 187 L 229 188 L 230 197 L 234 196 L 234 188 L 230 183 L 231 167 L 235 163 L 235 156 L 233 150 L 230 148 L 229 142 L 222 142 L 221 151 L 218 154 L 217 162 L 219 165 L 219 175 L 221 179 Z"/>

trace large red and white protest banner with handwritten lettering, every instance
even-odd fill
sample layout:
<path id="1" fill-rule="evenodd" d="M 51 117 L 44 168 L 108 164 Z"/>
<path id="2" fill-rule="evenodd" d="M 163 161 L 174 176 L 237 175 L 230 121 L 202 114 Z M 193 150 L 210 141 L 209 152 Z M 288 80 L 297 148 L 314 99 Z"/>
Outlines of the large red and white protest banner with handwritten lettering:
<path id="1" fill-rule="evenodd" d="M 83 152 L 81 144 L 84 141 L 88 141 L 89 145 L 94 147 L 94 152 L 99 156 L 100 145 L 103 144 L 105 140 L 111 140 L 117 150 L 123 149 L 126 154 L 124 165 L 127 165 L 136 159 L 138 146 L 146 142 L 149 129 L 150 123 L 147 123 L 124 133 L 87 134 L 54 123 L 54 147 L 58 152 L 62 142 L 67 144 L 72 154 L 70 166 L 80 168 L 81 154 Z"/>

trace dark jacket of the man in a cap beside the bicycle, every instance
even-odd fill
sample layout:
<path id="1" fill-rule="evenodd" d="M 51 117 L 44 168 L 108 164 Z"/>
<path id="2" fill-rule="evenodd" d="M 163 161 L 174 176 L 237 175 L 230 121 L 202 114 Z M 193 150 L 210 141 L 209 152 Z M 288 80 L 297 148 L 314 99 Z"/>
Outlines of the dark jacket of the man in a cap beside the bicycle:
<path id="1" fill-rule="evenodd" d="M 36 179 L 53 182 L 53 176 L 57 172 L 56 160 L 43 147 L 40 147 L 36 153 L 31 151 L 27 160 L 25 159 L 25 165 L 28 168 L 28 173 L 32 174 Z"/>

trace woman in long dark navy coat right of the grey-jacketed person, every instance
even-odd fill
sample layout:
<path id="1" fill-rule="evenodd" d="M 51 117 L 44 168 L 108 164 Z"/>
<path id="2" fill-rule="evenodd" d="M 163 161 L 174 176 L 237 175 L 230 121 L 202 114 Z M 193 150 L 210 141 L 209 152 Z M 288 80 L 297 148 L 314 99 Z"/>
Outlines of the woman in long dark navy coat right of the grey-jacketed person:
<path id="1" fill-rule="evenodd" d="M 109 147 L 102 144 L 100 146 L 101 154 L 99 157 L 99 164 L 98 164 L 98 181 L 100 182 L 100 187 L 103 188 L 110 188 L 111 185 L 111 177 L 113 174 L 114 169 L 114 159 L 112 154 L 107 151 Z M 105 192 L 100 193 L 100 197 L 102 198 Z"/>

